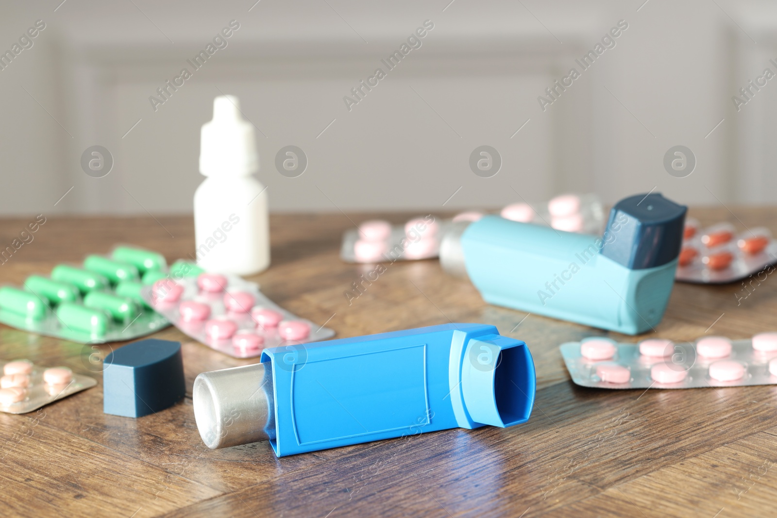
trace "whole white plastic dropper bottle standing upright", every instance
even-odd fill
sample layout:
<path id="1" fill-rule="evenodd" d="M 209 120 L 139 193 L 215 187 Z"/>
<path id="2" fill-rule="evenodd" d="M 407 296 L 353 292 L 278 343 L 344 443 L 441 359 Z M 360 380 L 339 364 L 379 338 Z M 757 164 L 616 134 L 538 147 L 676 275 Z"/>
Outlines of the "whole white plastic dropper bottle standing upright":
<path id="1" fill-rule="evenodd" d="M 194 193 L 197 264 L 218 273 L 250 275 L 270 266 L 267 192 L 259 171 L 256 133 L 235 96 L 218 96 L 213 120 L 202 125 L 200 173 Z"/>

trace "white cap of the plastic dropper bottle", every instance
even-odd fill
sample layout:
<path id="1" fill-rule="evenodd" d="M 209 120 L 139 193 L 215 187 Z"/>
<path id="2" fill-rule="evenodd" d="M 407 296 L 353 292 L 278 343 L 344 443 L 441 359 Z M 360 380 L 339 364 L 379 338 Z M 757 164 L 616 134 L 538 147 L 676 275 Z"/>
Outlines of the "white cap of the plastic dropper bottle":
<path id="1" fill-rule="evenodd" d="M 244 120 L 235 96 L 213 101 L 213 120 L 202 125 L 200 173 L 204 176 L 248 176 L 259 171 L 256 131 Z"/>

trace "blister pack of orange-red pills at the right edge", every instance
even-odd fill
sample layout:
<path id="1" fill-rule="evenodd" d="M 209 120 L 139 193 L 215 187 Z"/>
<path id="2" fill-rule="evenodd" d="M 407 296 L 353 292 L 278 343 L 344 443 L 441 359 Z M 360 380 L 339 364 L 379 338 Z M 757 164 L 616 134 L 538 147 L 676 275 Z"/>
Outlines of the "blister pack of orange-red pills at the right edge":
<path id="1" fill-rule="evenodd" d="M 775 262 L 777 242 L 768 228 L 751 228 L 737 234 L 733 224 L 701 228 L 699 221 L 689 217 L 685 220 L 675 278 L 687 283 L 730 283 Z"/>

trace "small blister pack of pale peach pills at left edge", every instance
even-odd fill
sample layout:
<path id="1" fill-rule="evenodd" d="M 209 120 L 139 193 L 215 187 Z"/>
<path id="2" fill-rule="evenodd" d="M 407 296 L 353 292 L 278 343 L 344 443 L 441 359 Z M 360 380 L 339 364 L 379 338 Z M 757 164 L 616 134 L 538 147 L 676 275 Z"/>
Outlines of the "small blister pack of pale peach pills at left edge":
<path id="1" fill-rule="evenodd" d="M 0 412 L 9 414 L 32 412 L 97 384 L 68 367 L 40 367 L 30 360 L 0 361 L 0 365 Z"/>

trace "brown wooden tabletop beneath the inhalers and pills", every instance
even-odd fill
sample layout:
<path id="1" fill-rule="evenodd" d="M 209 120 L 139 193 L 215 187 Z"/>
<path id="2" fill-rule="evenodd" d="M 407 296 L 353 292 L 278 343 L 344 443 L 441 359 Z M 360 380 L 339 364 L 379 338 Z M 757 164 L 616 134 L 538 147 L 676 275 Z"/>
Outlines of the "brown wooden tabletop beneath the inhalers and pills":
<path id="1" fill-rule="evenodd" d="M 771 225 L 777 210 L 692 210 L 702 223 Z M 375 216 L 370 214 L 369 216 Z M 402 223 L 408 214 L 383 214 Z M 362 221 L 368 214 L 350 214 Z M 0 266 L 0 282 L 22 283 L 57 262 L 131 243 L 169 261 L 193 252 L 190 217 L 48 218 Z M 0 244 L 28 219 L 5 220 Z M 164 225 L 162 228 L 161 225 Z M 267 443 L 208 450 L 191 401 L 194 377 L 234 360 L 175 328 L 186 369 L 183 402 L 141 419 L 103 414 L 96 388 L 43 412 L 0 414 L 2 516 L 775 516 L 777 386 L 682 391 L 580 388 L 558 345 L 598 329 L 484 304 L 472 285 L 434 260 L 402 262 L 351 300 L 367 266 L 338 257 L 351 227 L 342 214 L 272 217 L 270 269 L 252 277 L 278 304 L 336 330 L 338 337 L 452 322 L 497 325 L 523 339 L 537 367 L 527 424 L 451 429 L 406 439 L 278 459 Z M 175 236 L 175 237 L 171 237 Z M 771 276 L 737 304 L 739 283 L 678 284 L 651 336 L 748 338 L 777 329 Z M 744 292 L 742 292 L 744 293 Z M 520 323 L 520 325 L 519 325 Z M 615 339 L 642 337 L 611 334 Z M 121 346 L 103 346 L 105 351 Z M 0 357 L 64 364 L 89 374 L 84 347 L 0 327 Z M 254 360 L 255 361 L 255 360 Z"/>

